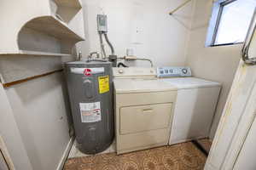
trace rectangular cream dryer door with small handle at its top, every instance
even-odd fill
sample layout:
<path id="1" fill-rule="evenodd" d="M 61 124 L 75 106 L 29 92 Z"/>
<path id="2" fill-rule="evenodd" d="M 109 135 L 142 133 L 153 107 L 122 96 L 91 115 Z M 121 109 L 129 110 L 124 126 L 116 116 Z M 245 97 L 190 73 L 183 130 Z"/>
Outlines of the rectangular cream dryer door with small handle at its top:
<path id="1" fill-rule="evenodd" d="M 120 134 L 168 128 L 171 118 L 172 103 L 122 107 L 120 109 Z"/>

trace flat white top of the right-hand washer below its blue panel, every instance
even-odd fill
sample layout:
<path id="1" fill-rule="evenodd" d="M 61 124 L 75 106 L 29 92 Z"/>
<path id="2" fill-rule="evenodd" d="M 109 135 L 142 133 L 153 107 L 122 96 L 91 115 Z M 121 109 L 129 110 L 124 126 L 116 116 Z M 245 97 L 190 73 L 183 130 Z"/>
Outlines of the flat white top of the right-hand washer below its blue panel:
<path id="1" fill-rule="evenodd" d="M 169 82 L 178 89 L 183 88 L 207 88 L 221 86 L 219 82 L 211 82 L 195 77 L 183 77 L 183 78 L 163 78 L 162 82 Z"/>

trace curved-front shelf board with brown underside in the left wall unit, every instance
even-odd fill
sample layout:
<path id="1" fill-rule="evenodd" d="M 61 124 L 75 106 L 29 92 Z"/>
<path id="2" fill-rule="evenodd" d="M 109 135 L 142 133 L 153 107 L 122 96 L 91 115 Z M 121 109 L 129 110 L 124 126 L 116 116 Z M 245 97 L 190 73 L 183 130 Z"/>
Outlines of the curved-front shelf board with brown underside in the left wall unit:
<path id="1" fill-rule="evenodd" d="M 73 40 L 74 42 L 83 41 L 84 38 L 72 31 L 66 23 L 57 19 L 55 16 L 43 16 L 26 23 L 27 28 L 44 32 L 49 36 L 59 39 Z"/>

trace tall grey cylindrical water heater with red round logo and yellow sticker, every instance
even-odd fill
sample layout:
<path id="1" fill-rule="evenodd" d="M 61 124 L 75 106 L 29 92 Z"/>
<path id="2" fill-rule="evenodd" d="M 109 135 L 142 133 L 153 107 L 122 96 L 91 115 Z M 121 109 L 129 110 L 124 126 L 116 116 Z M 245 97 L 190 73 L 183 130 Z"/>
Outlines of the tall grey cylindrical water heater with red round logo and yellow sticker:
<path id="1" fill-rule="evenodd" d="M 65 65 L 78 149 L 106 150 L 113 142 L 112 63 L 75 61 Z"/>

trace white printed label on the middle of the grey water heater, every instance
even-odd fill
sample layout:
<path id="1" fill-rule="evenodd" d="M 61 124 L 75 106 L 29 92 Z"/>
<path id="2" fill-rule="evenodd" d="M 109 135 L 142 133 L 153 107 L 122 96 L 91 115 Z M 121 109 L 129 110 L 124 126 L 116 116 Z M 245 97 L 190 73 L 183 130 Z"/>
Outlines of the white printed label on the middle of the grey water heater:
<path id="1" fill-rule="evenodd" d="M 101 103 L 80 103 L 80 112 L 82 122 L 100 122 L 102 121 Z"/>

